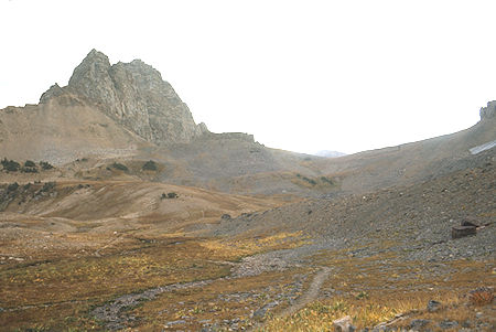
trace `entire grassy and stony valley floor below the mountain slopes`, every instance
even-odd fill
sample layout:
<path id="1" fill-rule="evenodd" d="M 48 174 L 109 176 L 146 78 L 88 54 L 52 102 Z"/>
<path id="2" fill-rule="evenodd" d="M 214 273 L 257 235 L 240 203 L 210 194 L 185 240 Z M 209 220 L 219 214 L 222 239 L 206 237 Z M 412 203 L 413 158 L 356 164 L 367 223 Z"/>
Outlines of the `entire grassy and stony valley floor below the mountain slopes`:
<path id="1" fill-rule="evenodd" d="M 495 189 L 492 162 L 292 203 L 147 182 L 4 184 L 0 326 L 332 331 L 349 315 L 363 331 L 494 331 Z M 85 218 L 72 214 L 82 204 Z M 452 239 L 462 221 L 476 235 Z"/>

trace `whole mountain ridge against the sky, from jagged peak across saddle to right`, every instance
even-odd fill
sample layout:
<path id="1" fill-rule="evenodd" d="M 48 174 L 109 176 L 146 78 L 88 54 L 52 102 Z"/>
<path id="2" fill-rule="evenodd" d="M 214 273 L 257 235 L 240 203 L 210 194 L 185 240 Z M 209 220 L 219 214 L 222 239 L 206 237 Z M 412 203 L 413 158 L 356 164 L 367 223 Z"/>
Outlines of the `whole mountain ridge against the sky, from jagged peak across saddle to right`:
<path id="1" fill-rule="evenodd" d="M 425 181 L 496 153 L 495 113 L 496 101 L 489 101 L 481 121 L 460 132 L 319 158 L 267 148 L 247 133 L 209 132 L 157 69 L 139 60 L 110 65 L 93 50 L 67 86 L 53 85 L 39 105 L 0 110 L 0 158 L 48 161 L 65 168 L 67 179 L 120 176 L 108 170 L 118 161 L 137 170 L 126 179 L 230 193 L 359 193 Z M 93 163 L 75 163 L 82 159 Z M 148 160 L 160 165 L 157 172 L 136 167 Z"/>

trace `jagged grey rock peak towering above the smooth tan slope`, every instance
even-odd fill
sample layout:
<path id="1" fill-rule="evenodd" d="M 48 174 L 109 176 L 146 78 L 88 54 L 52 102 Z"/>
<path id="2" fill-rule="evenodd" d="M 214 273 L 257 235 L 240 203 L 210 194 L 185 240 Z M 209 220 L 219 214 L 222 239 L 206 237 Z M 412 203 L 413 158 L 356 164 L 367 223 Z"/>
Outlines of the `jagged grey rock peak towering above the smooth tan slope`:
<path id="1" fill-rule="evenodd" d="M 64 93 L 82 97 L 153 143 L 190 142 L 208 131 L 204 124 L 194 122 L 186 104 L 160 73 L 140 60 L 110 65 L 104 53 L 93 50 L 68 85 L 53 85 L 40 103 Z"/>

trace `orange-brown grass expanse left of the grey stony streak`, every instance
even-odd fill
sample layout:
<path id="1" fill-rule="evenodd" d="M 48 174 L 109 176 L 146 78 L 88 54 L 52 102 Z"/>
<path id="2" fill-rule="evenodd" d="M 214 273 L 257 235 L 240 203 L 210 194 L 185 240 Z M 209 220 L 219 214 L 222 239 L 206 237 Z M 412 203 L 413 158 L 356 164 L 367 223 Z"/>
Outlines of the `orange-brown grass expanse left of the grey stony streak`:
<path id="1" fill-rule="evenodd" d="M 60 259 L 0 267 L 0 308 L 6 309 L 0 312 L 0 325 L 8 331 L 98 330 L 101 326 L 89 317 L 94 306 L 158 286 L 218 279 L 230 274 L 226 260 L 295 247 L 303 240 L 300 233 L 231 243 L 171 237 L 171 234 L 144 239 L 129 236 L 126 242 L 101 250 L 101 257 L 58 253 Z M 55 253 L 51 256 L 56 257 Z"/>

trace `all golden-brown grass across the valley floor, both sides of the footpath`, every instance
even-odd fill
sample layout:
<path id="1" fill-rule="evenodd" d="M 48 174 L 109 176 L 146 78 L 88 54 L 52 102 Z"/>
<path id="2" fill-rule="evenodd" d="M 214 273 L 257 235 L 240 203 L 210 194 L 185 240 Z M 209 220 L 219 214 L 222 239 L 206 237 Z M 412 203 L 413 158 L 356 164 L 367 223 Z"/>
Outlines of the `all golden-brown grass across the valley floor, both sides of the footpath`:
<path id="1" fill-rule="evenodd" d="M 279 233 L 266 237 L 201 239 L 164 234 L 132 238 L 103 250 L 101 257 L 67 257 L 46 261 L 24 261 L 0 267 L 0 325 L 3 330 L 103 330 L 89 312 L 120 294 L 176 282 L 213 280 L 198 288 L 175 290 L 130 308 L 139 321 L 133 329 L 162 330 L 168 321 L 194 317 L 188 329 L 202 321 L 240 319 L 238 328 L 257 321 L 255 310 L 289 293 L 298 275 L 310 268 L 266 272 L 255 277 L 224 279 L 229 261 L 268 250 L 294 248 L 309 242 L 302 233 Z M 385 247 L 393 244 L 382 244 Z M 282 300 L 269 311 L 261 331 L 330 331 L 332 321 L 353 318 L 358 329 L 374 326 L 408 313 L 397 323 L 408 326 L 411 319 L 473 320 L 473 304 L 493 301 L 488 289 L 495 286 L 494 261 L 451 263 L 403 261 L 392 253 L 353 257 L 349 250 L 322 251 L 312 258 L 315 266 L 331 267 L 321 297 L 300 311 L 278 317 L 289 306 Z M 62 254 L 62 253 L 61 253 Z M 301 296 L 311 278 L 295 296 Z M 489 287 L 482 289 L 481 287 Z M 478 289 L 478 291 L 471 290 Z M 233 294 L 249 293 L 246 298 Z M 230 300 L 229 300 L 230 299 Z M 429 300 L 443 303 L 440 312 L 425 312 Z M 490 299 L 490 300 L 489 300 Z M 472 304 L 471 304 L 472 303 Z"/>

